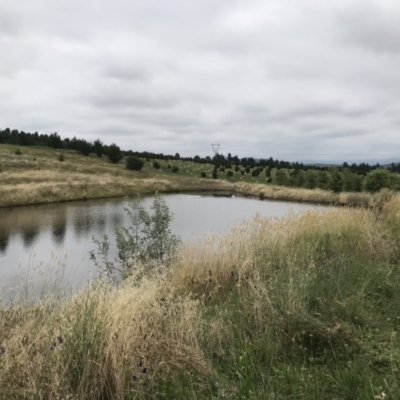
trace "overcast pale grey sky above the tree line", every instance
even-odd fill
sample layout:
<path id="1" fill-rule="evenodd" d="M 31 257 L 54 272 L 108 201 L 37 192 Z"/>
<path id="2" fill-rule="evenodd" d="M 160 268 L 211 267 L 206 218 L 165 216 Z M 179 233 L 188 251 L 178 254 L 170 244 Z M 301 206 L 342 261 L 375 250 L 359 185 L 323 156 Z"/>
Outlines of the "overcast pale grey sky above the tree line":
<path id="1" fill-rule="evenodd" d="M 398 0 L 0 0 L 0 128 L 182 156 L 400 156 Z"/>

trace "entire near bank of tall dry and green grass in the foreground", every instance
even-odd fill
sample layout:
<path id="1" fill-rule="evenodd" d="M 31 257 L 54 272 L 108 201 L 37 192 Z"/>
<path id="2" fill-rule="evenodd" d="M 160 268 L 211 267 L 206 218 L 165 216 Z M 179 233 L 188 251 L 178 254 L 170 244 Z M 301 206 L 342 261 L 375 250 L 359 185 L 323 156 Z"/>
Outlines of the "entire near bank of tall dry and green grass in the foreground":
<path id="1" fill-rule="evenodd" d="M 255 218 L 141 285 L 0 311 L 0 398 L 400 398 L 400 197 Z"/>

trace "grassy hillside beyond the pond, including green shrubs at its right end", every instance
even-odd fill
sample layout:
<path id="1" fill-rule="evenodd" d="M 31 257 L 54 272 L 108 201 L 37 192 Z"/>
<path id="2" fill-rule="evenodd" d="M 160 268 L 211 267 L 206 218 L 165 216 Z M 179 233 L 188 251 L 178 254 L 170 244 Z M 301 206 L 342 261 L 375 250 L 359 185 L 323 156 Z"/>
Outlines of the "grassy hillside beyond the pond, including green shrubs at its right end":
<path id="1" fill-rule="evenodd" d="M 379 169 L 365 178 L 363 185 L 368 191 L 351 191 L 346 179 L 351 180 L 355 175 L 337 169 L 331 175 L 328 172 L 318 175 L 317 180 L 313 180 L 315 171 L 308 171 L 311 181 L 305 180 L 304 186 L 300 186 L 292 185 L 288 178 L 292 173 L 297 177 L 305 175 L 297 170 L 267 167 L 260 172 L 260 167 L 247 166 L 227 168 L 222 174 L 211 163 L 180 158 L 146 161 L 130 155 L 112 163 L 105 157 L 85 156 L 75 150 L 29 146 L 16 154 L 16 149 L 19 150 L 15 145 L 0 144 L 0 207 L 136 196 L 156 191 L 212 191 L 261 199 L 374 207 L 392 195 L 389 188 L 398 189 L 398 174 Z M 330 182 L 331 189 L 324 182 Z M 382 194 L 381 189 L 386 187 Z"/>

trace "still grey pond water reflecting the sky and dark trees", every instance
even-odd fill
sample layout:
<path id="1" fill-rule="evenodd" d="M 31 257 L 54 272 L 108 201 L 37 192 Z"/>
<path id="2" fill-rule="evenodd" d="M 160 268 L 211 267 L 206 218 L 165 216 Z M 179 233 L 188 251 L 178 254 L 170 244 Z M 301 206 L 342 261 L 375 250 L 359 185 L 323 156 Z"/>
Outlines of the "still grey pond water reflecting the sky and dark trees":
<path id="1" fill-rule="evenodd" d="M 241 197 L 163 196 L 174 214 L 172 233 L 196 240 L 207 233 L 223 234 L 235 221 L 283 216 L 316 206 Z M 143 199 L 146 208 L 152 197 Z M 129 226 L 127 200 L 94 200 L 0 209 L 0 298 L 9 300 L 21 279 L 40 287 L 44 280 L 63 280 L 78 288 L 97 275 L 89 252 L 93 237 L 107 234 L 113 242 L 118 226 Z M 112 249 L 115 254 L 115 248 Z"/>

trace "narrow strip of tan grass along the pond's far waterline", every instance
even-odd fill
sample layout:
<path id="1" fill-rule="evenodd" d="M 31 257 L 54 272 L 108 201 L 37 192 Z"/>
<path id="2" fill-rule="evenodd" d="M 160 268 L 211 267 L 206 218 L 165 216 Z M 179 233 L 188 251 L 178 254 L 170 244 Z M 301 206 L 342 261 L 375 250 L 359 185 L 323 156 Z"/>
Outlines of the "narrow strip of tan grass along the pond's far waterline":
<path id="1" fill-rule="evenodd" d="M 162 194 L 207 193 L 215 196 L 237 195 L 258 198 L 260 200 L 374 208 L 381 207 L 396 195 L 389 190 L 383 190 L 374 194 L 366 192 L 333 193 L 321 189 L 288 188 L 244 182 L 232 183 L 199 178 L 136 178 L 129 182 L 121 182 L 125 181 L 125 179 L 118 179 L 120 177 L 103 176 L 103 178 L 105 182 L 101 184 L 96 184 L 98 183 L 96 182 L 92 185 L 88 185 L 87 182 L 82 185 L 80 181 L 75 182 L 75 184 L 71 184 L 71 182 L 40 182 L 38 184 L 6 185 L 0 187 L 0 208 L 7 209 L 76 201 L 121 199 L 137 195 L 152 195 L 156 192 Z M 114 182 L 111 182 L 112 180 Z M 111 185 L 107 186 L 107 183 L 110 182 Z M 126 183 L 126 185 L 123 185 L 123 183 Z M 51 187 L 46 188 L 49 185 Z"/>

